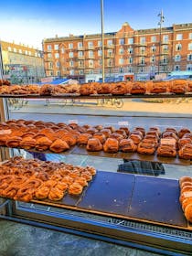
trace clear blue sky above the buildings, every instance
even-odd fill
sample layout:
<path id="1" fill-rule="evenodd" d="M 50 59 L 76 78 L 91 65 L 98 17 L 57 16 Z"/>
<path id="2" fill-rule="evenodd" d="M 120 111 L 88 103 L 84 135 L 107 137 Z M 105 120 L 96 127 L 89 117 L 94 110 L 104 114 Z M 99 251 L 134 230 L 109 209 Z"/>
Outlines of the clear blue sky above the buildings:
<path id="1" fill-rule="evenodd" d="M 103 0 L 104 32 L 192 23 L 192 0 Z M 0 5 L 0 40 L 42 48 L 44 38 L 101 33 L 101 0 L 9 0 Z"/>

